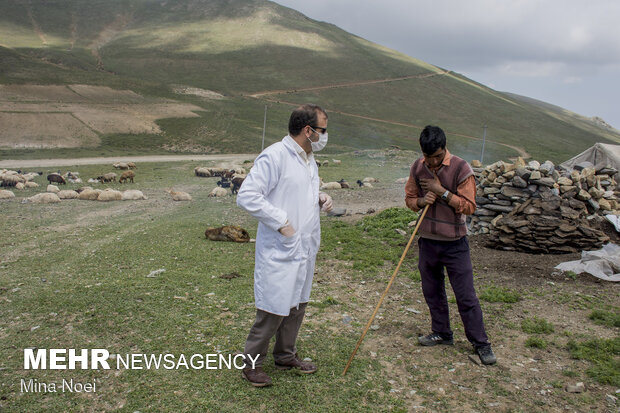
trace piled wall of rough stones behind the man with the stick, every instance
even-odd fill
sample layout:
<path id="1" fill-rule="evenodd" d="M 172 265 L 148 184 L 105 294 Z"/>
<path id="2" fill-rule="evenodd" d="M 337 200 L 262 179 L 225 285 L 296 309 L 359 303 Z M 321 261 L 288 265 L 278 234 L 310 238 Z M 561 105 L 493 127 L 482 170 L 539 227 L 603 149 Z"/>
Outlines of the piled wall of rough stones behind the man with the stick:
<path id="1" fill-rule="evenodd" d="M 490 234 L 494 248 L 533 253 L 597 249 L 609 238 L 591 227 L 593 214 L 620 215 L 611 167 L 560 171 L 547 161 L 472 162 L 478 182 L 473 234 Z"/>

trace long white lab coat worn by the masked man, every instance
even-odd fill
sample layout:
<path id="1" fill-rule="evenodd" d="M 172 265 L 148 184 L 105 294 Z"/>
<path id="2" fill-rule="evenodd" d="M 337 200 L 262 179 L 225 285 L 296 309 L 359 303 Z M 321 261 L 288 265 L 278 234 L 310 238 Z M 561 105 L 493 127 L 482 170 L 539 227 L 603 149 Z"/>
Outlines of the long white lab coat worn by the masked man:
<path id="1" fill-rule="evenodd" d="M 308 302 L 321 242 L 319 171 L 309 167 L 285 137 L 254 161 L 237 195 L 237 205 L 258 219 L 254 298 L 256 308 L 287 316 Z M 278 229 L 286 221 L 295 235 Z"/>

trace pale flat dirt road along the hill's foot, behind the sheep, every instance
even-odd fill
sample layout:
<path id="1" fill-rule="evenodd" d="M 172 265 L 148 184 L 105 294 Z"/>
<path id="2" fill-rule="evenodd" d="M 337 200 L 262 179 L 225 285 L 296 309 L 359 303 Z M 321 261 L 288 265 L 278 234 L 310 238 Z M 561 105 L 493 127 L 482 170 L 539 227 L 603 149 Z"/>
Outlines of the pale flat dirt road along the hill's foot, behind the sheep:
<path id="1" fill-rule="evenodd" d="M 177 162 L 177 161 L 222 161 L 243 162 L 254 159 L 258 154 L 237 153 L 222 155 L 152 155 L 152 156 L 116 156 L 98 158 L 68 159 L 6 159 L 0 161 L 0 168 L 43 168 L 49 166 L 77 166 L 112 164 L 116 162 Z"/>

